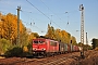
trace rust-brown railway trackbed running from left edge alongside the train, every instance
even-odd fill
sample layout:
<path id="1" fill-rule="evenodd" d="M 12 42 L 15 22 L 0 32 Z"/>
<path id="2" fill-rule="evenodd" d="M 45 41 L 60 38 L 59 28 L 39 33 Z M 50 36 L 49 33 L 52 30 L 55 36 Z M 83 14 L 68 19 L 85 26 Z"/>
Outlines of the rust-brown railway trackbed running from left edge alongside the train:
<path id="1" fill-rule="evenodd" d="M 45 58 L 11 57 L 0 60 L 0 65 L 68 65 L 66 63 L 74 55 L 76 56 L 74 53 L 68 53 Z"/>

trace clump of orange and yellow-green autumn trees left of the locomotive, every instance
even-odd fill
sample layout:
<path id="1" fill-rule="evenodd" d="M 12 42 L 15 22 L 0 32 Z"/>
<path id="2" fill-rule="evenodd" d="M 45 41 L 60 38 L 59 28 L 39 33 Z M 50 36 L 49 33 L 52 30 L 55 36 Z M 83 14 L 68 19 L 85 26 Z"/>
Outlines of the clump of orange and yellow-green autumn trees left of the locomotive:
<path id="1" fill-rule="evenodd" d="M 16 44 L 16 37 L 17 37 L 17 16 L 11 13 L 5 15 L 0 13 L 0 46 L 7 44 L 7 41 L 10 41 L 10 44 Z M 27 28 L 22 24 L 20 20 L 20 46 L 28 46 L 29 39 L 33 40 L 34 34 L 28 34 Z M 5 39 L 5 40 L 3 40 Z M 3 42 L 3 41 L 4 42 Z M 12 47 L 13 47 L 12 46 Z M 1 47 L 1 49 L 3 46 Z M 1 51 L 1 50 L 0 50 Z"/>

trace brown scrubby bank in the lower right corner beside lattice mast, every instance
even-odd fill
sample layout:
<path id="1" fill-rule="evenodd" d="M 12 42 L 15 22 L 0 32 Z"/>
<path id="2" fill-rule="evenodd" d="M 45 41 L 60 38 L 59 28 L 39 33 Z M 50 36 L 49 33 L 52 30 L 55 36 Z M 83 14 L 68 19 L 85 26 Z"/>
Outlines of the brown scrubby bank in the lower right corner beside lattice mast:
<path id="1" fill-rule="evenodd" d="M 85 51 L 85 58 L 77 60 L 75 65 L 98 65 L 98 51 Z"/>

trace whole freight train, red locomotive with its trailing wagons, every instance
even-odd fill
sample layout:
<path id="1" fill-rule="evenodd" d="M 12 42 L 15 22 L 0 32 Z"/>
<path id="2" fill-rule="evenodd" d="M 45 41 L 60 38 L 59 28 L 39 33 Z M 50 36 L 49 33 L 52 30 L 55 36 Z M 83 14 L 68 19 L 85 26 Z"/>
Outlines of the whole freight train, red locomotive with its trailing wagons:
<path id="1" fill-rule="evenodd" d="M 46 38 L 33 39 L 32 47 L 33 55 L 36 56 L 49 56 L 70 52 L 77 52 L 81 50 L 78 46 L 73 46 L 72 43 L 62 43 L 61 41 Z"/>

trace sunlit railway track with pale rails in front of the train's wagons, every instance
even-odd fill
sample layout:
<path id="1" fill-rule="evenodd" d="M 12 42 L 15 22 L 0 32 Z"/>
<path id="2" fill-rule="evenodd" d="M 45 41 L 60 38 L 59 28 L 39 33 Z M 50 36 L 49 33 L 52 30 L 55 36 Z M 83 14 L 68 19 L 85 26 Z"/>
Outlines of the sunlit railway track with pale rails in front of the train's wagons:
<path id="1" fill-rule="evenodd" d="M 78 56 L 76 55 L 58 55 L 56 57 L 48 58 L 47 61 L 40 61 L 38 65 L 69 65 L 70 61 L 78 60 Z"/>

